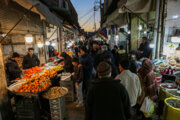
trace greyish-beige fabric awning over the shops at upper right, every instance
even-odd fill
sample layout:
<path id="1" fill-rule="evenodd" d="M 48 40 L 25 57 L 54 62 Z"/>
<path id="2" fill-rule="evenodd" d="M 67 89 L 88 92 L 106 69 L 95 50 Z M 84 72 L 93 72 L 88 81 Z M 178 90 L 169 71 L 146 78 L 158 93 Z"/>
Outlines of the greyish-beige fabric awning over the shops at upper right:
<path id="1" fill-rule="evenodd" d="M 117 9 L 106 17 L 106 25 L 125 25 L 128 23 L 128 14 L 148 13 L 155 10 L 156 0 L 119 0 Z M 127 9 L 126 9 L 127 8 Z"/>

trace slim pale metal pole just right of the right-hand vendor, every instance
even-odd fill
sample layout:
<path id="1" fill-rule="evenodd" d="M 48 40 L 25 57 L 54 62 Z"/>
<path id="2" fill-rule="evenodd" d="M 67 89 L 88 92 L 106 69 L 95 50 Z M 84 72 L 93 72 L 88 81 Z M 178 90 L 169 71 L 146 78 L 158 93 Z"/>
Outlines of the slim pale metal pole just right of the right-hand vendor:
<path id="1" fill-rule="evenodd" d="M 157 47 L 157 35 L 158 35 L 158 25 L 159 25 L 159 9 L 160 9 L 160 0 L 157 0 L 156 4 L 156 20 L 155 20 L 155 28 L 154 28 L 154 49 L 152 53 L 152 59 L 155 59 L 156 47 Z"/>

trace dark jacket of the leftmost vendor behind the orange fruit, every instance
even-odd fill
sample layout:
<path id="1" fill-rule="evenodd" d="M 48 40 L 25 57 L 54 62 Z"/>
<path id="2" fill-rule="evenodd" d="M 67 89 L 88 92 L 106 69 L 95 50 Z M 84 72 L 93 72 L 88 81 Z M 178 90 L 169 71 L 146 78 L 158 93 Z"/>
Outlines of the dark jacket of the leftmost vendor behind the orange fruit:
<path id="1" fill-rule="evenodd" d="M 9 59 L 6 63 L 6 73 L 8 80 L 11 81 L 20 78 L 22 71 L 15 60 Z"/>

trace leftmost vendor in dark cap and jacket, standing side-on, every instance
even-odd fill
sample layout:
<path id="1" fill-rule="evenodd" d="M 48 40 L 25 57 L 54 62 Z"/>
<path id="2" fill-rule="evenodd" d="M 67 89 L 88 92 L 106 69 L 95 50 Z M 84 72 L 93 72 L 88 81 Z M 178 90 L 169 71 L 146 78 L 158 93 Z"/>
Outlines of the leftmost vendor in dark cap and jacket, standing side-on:
<path id="1" fill-rule="evenodd" d="M 7 79 L 8 79 L 8 85 L 10 85 L 12 80 L 15 80 L 16 78 L 21 77 L 21 69 L 18 66 L 17 61 L 19 61 L 19 54 L 13 53 L 12 58 L 8 59 L 6 63 L 6 73 L 7 73 Z"/>

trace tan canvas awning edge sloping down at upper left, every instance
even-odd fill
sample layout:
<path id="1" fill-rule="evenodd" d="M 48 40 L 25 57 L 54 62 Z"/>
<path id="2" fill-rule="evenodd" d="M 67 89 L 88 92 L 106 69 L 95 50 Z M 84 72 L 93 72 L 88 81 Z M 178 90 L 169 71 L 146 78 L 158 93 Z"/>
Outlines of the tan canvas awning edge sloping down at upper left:
<path id="1" fill-rule="evenodd" d="M 39 0 L 14 0 L 19 5 L 23 6 L 26 9 L 30 9 L 32 6 L 33 9 L 31 11 L 40 15 L 41 20 L 46 20 L 48 23 L 62 26 L 62 20 L 59 19 L 55 14 L 53 14 L 49 8 L 41 3 Z"/>

